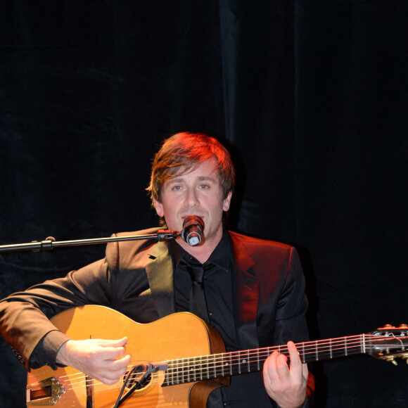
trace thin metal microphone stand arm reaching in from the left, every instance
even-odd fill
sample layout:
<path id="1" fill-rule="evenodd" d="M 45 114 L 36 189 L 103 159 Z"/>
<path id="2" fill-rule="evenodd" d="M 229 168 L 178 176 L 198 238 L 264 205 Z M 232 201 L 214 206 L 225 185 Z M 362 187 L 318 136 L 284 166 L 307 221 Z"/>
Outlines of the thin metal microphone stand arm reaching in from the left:
<path id="1" fill-rule="evenodd" d="M 182 231 L 181 231 L 182 232 Z M 131 236 L 110 236 L 109 238 L 91 238 L 78 239 L 75 241 L 56 241 L 52 236 L 47 237 L 44 241 L 32 241 L 30 243 L 17 243 L 13 245 L 1 245 L 0 253 L 2 252 L 17 252 L 32 250 L 39 252 L 40 250 L 51 250 L 62 246 L 82 246 L 94 245 L 97 243 L 109 243 L 117 241 L 135 241 L 138 239 L 157 239 L 157 241 L 170 241 L 181 235 L 181 232 L 159 229 L 156 234 L 147 235 L 131 235 Z"/>

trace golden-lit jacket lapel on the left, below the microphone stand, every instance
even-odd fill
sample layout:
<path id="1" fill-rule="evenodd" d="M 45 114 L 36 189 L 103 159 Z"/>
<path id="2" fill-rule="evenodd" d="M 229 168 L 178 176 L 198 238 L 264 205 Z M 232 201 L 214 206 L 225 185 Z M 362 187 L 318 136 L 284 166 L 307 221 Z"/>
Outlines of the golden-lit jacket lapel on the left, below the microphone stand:
<path id="1" fill-rule="evenodd" d="M 165 242 L 158 242 L 149 250 L 149 260 L 146 273 L 153 302 L 161 318 L 176 312 L 173 261 Z"/>

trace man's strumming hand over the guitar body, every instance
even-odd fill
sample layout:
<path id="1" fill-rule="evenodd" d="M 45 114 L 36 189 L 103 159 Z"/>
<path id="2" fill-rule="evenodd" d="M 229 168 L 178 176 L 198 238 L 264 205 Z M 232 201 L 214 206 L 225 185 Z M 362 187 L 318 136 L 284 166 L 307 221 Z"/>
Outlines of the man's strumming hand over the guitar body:
<path id="1" fill-rule="evenodd" d="M 112 385 L 126 374 L 130 355 L 125 355 L 127 337 L 120 340 L 68 340 L 58 351 L 57 362 Z"/>

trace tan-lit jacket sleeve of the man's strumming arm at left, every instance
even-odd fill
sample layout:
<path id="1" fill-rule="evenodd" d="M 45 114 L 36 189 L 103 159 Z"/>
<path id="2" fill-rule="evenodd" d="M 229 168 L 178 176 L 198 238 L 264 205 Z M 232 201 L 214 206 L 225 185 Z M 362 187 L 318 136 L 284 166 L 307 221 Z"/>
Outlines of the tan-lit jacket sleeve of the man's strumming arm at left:
<path id="1" fill-rule="evenodd" d="M 64 278 L 45 281 L 1 300 L 0 333 L 27 370 L 37 345 L 33 368 L 47 364 L 55 369 L 56 353 L 68 337 L 57 331 L 49 319 L 70 307 L 109 302 L 107 262 L 100 260 Z"/>

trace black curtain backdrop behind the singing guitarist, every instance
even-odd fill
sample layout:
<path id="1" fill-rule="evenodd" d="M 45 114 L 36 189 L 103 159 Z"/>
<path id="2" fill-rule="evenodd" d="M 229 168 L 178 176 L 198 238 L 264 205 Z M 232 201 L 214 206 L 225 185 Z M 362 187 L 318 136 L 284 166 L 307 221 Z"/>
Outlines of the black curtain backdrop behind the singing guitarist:
<path id="1" fill-rule="evenodd" d="M 162 139 L 219 136 L 231 229 L 295 245 L 313 339 L 408 323 L 405 0 L 4 0 L 0 243 L 157 224 Z M 0 298 L 103 246 L 0 254 Z M 1 407 L 25 371 L 0 339 Z M 408 367 L 314 365 L 318 407 L 406 407 Z"/>

